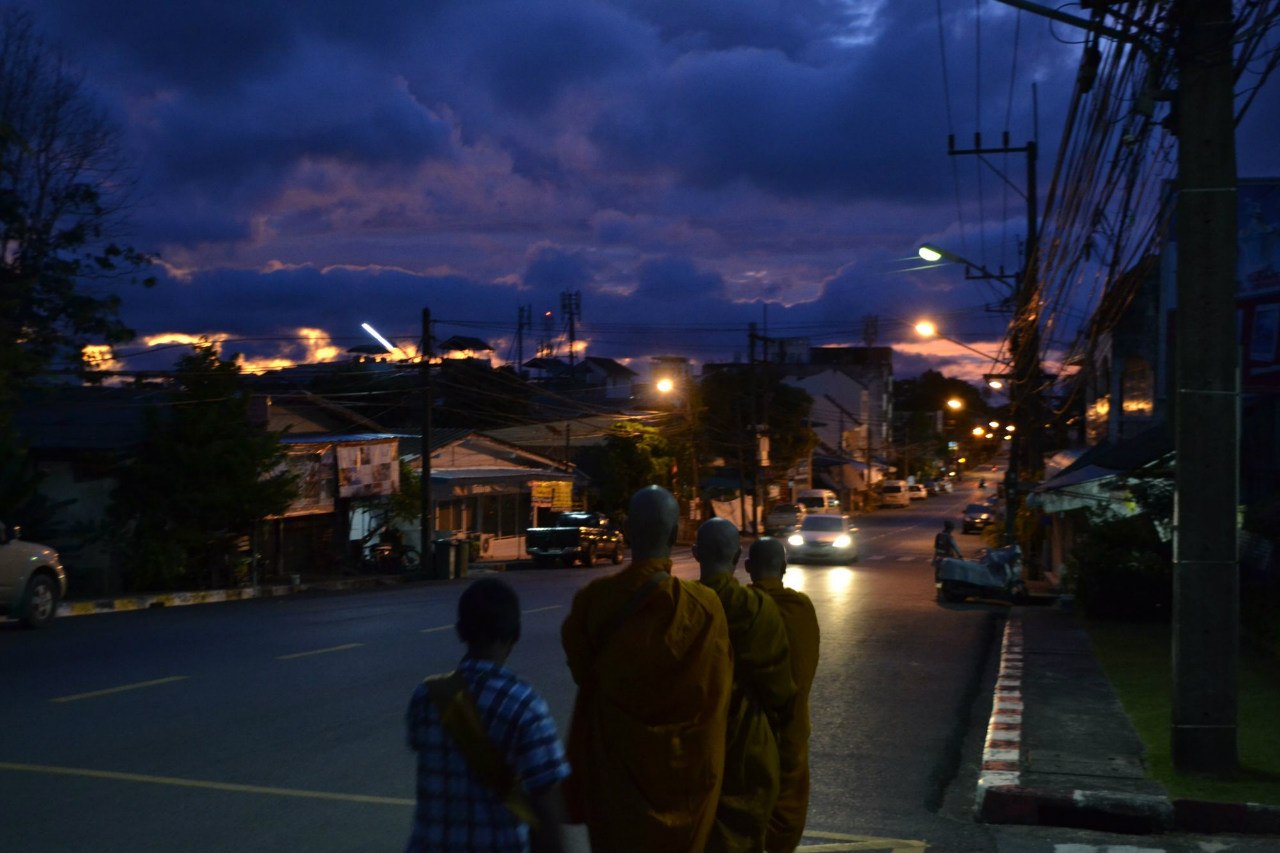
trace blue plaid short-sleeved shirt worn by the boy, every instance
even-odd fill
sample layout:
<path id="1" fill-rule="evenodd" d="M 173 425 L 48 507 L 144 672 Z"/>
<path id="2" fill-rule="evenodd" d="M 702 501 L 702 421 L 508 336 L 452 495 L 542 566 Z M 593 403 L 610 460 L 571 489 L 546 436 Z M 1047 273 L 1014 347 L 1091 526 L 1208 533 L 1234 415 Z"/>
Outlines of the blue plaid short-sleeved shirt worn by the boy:
<path id="1" fill-rule="evenodd" d="M 568 776 L 564 748 L 547 703 L 507 667 L 465 658 L 458 670 L 480 720 L 515 768 L 526 792 Z M 408 745 L 417 751 L 417 808 L 406 853 L 525 853 L 529 826 L 468 770 L 440 726 L 440 715 L 420 684 L 408 704 Z"/>

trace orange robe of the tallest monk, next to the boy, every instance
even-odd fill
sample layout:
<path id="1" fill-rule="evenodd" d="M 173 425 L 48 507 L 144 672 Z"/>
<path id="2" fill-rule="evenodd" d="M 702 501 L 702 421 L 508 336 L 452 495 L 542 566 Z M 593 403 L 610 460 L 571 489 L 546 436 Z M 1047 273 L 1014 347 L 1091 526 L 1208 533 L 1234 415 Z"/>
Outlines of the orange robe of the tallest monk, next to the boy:
<path id="1" fill-rule="evenodd" d="M 573 597 L 561 640 L 577 683 L 564 794 L 594 853 L 701 853 L 724 772 L 732 685 L 728 626 L 709 589 L 634 562 Z"/>

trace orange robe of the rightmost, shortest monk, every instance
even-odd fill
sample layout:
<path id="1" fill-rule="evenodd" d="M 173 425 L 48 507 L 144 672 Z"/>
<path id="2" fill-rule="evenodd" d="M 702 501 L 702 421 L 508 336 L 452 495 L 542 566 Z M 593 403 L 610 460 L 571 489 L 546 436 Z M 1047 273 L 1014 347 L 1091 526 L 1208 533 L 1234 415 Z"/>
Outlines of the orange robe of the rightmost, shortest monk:
<path id="1" fill-rule="evenodd" d="M 778 733 L 782 792 L 773 807 L 764 844 L 769 853 L 790 853 L 800 844 L 809 813 L 809 690 L 818 671 L 818 615 L 808 596 L 787 589 L 777 578 L 762 578 L 751 587 L 763 589 L 777 602 L 791 644 L 791 678 L 796 683 L 796 698 L 790 717 Z"/>

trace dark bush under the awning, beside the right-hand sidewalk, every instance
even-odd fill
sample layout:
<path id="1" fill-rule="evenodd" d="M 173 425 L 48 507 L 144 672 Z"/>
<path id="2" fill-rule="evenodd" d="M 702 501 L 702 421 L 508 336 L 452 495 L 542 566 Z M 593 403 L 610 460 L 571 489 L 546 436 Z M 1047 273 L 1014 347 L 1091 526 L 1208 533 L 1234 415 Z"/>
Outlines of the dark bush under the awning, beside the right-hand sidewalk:
<path id="1" fill-rule="evenodd" d="M 1146 514 L 1089 514 L 1068 558 L 1076 603 L 1103 619 L 1167 619 L 1172 606 L 1172 553 Z"/>

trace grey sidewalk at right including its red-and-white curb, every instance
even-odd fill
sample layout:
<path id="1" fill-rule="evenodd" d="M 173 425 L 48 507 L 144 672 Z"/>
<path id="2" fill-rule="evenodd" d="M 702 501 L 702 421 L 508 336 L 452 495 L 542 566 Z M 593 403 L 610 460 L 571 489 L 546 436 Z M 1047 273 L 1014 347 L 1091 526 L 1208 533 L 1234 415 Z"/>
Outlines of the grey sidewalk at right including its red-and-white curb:
<path id="1" fill-rule="evenodd" d="M 1015 607 L 1005 628 L 977 817 L 1108 833 L 1280 835 L 1280 807 L 1171 800 L 1146 777 L 1142 740 L 1076 615 L 1048 601 Z"/>

